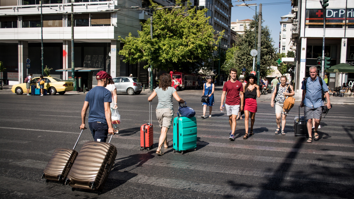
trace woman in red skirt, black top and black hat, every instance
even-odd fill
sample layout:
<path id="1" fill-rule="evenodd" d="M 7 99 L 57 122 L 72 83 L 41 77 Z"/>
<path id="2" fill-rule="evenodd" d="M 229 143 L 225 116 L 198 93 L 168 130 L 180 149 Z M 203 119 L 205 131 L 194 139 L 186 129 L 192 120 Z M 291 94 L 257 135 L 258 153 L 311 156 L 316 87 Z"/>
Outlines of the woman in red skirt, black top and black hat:
<path id="1" fill-rule="evenodd" d="M 253 135 L 253 124 L 255 124 L 255 115 L 257 112 L 257 97 L 261 96 L 259 92 L 259 86 L 256 83 L 256 76 L 254 74 L 250 74 L 246 77 L 247 84 L 244 85 L 245 92 L 245 130 L 246 134 L 244 135 L 244 139 L 248 138 L 248 120 L 251 114 L 251 130 L 250 135 Z"/>

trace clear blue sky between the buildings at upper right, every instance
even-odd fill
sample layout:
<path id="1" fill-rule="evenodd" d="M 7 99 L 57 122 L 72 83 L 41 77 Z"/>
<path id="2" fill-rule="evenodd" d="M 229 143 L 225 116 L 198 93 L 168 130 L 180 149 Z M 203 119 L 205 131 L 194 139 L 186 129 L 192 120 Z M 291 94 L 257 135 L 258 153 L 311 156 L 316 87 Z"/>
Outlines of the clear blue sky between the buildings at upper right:
<path id="1" fill-rule="evenodd" d="M 291 1 L 290 0 L 251 0 L 245 1 L 246 4 L 262 4 L 262 17 L 264 23 L 262 25 L 268 25 L 271 36 L 273 38 L 274 47 L 278 49 L 279 46 L 279 31 L 280 31 L 280 21 L 281 16 L 289 14 L 291 12 Z M 233 5 L 241 5 L 243 1 L 232 0 Z M 270 4 L 270 3 L 273 3 Z M 270 4 L 270 5 L 268 5 Z M 252 19 L 255 15 L 256 6 L 249 7 L 232 7 L 231 8 L 231 21 L 236 22 L 236 19 Z M 259 11 L 259 6 L 257 5 L 257 12 Z"/>

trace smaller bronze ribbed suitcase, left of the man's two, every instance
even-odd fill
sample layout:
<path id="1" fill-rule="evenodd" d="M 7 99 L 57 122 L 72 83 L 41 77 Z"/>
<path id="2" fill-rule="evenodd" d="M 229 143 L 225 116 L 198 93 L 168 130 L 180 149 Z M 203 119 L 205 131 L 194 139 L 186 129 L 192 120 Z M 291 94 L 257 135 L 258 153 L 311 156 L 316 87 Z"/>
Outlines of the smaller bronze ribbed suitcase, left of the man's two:
<path id="1" fill-rule="evenodd" d="M 78 155 L 78 152 L 74 149 L 78 144 L 82 131 L 83 130 L 81 130 L 73 149 L 56 148 L 54 150 L 52 157 L 50 157 L 48 164 L 42 173 L 42 178 L 46 178 L 47 180 L 62 181 L 67 177 L 69 170 Z"/>

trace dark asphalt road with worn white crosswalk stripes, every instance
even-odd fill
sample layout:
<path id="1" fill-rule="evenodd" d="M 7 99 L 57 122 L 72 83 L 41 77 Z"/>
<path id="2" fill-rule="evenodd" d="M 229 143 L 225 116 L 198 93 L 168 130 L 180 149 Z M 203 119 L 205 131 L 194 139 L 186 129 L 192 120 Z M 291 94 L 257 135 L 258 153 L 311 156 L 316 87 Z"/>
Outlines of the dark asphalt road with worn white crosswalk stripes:
<path id="1" fill-rule="evenodd" d="M 286 135 L 275 135 L 269 95 L 258 99 L 255 135 L 247 140 L 244 120 L 230 141 L 227 115 L 218 110 L 202 119 L 202 91 L 178 94 L 196 110 L 197 150 L 173 153 L 172 142 L 155 154 L 160 135 L 153 113 L 154 149 L 140 151 L 140 126 L 148 121 L 148 92 L 118 94 L 120 134 L 112 138 L 118 155 L 103 193 L 41 179 L 53 150 L 72 148 L 79 136 L 85 94 L 26 96 L 0 92 L 0 198 L 353 198 L 354 106 L 336 105 L 321 121 L 320 139 L 306 143 L 293 134 L 298 103 L 287 116 Z M 157 98 L 152 102 L 157 105 Z M 177 112 L 178 103 L 174 100 Z M 303 111 L 303 109 L 302 109 Z M 177 113 L 175 113 L 177 116 Z M 84 130 L 76 150 L 92 141 Z M 168 131 L 172 140 L 172 129 Z"/>

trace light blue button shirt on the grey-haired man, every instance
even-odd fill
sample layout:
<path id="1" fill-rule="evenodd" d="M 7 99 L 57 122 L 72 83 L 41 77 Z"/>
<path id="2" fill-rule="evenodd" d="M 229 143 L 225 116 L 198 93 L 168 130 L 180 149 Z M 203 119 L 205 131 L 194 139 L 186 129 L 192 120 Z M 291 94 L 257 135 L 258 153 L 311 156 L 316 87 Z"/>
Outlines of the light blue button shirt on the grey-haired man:
<path id="1" fill-rule="evenodd" d="M 302 90 L 305 89 L 305 85 L 302 84 L 301 87 Z M 322 88 L 319 82 L 318 76 L 314 81 L 312 81 L 311 78 L 307 78 L 307 84 L 306 84 L 306 95 L 304 99 L 304 105 L 310 108 L 318 108 L 321 106 L 324 106 L 323 101 L 322 101 L 322 91 L 323 92 L 328 91 L 327 85 L 325 83 L 325 80 L 322 79 Z"/>

